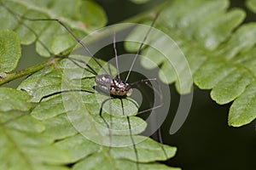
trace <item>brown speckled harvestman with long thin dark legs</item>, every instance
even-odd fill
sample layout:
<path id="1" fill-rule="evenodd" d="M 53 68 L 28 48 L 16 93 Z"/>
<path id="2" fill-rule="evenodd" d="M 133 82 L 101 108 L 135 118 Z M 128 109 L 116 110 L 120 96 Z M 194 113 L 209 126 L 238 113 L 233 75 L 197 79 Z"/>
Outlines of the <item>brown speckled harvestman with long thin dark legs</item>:
<path id="1" fill-rule="evenodd" d="M 100 62 L 96 59 L 96 57 L 90 53 L 90 50 L 89 48 L 87 48 L 87 46 L 84 44 L 84 42 L 82 42 L 78 37 L 76 37 L 73 33 L 73 31 L 71 31 L 61 20 L 58 20 L 58 19 L 31 19 L 31 18 L 27 18 L 25 16 L 21 16 L 20 14 L 16 14 L 14 11 L 12 11 L 11 9 L 9 9 L 5 4 L 3 4 L 3 2 L 1 1 L 2 5 L 4 8 L 6 8 L 11 14 L 14 14 L 15 16 L 19 16 L 20 18 L 22 19 L 25 19 L 25 20 L 31 20 L 31 21 L 44 21 L 44 20 L 48 20 L 48 21 L 55 21 L 57 23 L 59 23 L 61 26 L 63 26 L 68 32 L 69 34 L 77 41 L 79 42 L 79 44 L 84 48 L 84 50 L 90 54 L 90 57 L 92 59 L 94 59 L 94 61 L 96 62 L 97 65 L 99 65 L 100 67 L 102 67 L 102 65 L 100 64 Z M 137 82 L 131 82 L 131 83 L 128 83 L 128 78 L 130 77 L 131 75 L 131 71 L 132 71 L 132 67 L 133 65 L 135 64 L 136 60 L 137 60 L 137 57 L 138 55 L 140 54 L 142 48 L 143 48 L 143 45 L 144 45 L 144 42 L 147 40 L 147 37 L 149 35 L 149 32 L 151 31 L 151 28 L 154 26 L 154 23 L 155 21 L 157 20 L 158 18 L 158 15 L 159 14 L 156 14 L 155 17 L 154 17 L 154 20 L 153 22 L 151 23 L 151 26 L 150 28 L 148 29 L 148 31 L 146 32 L 145 36 L 143 37 L 143 42 L 140 43 L 140 46 L 137 50 L 137 53 L 135 54 L 134 58 L 132 59 L 132 63 L 131 63 L 131 67 L 128 71 L 128 74 L 127 76 L 125 77 L 125 81 L 122 81 L 120 79 L 120 75 L 119 75 L 119 63 L 118 63 L 118 54 L 117 54 L 117 49 L 116 49 L 116 42 L 115 42 L 115 33 L 113 34 L 113 49 L 114 49 L 114 58 L 115 58 L 115 62 L 116 62 L 116 69 L 117 69 L 117 77 L 113 77 L 111 76 L 108 71 L 106 69 L 104 69 L 104 67 L 102 67 L 102 70 L 105 71 L 105 74 L 101 74 L 101 75 L 97 75 L 97 72 L 90 66 L 88 65 L 87 63 L 85 63 L 83 60 L 80 60 L 80 59 L 74 59 L 72 57 L 61 57 L 61 56 L 55 56 L 55 58 L 63 58 L 63 59 L 70 59 L 73 64 L 75 65 L 78 65 L 79 67 L 82 67 L 81 65 L 79 65 L 79 63 L 82 63 L 84 64 L 89 70 L 90 72 L 92 72 L 96 78 L 95 78 L 95 82 L 96 82 L 96 87 L 99 88 L 103 93 L 105 94 L 110 94 L 111 98 L 109 99 L 106 99 L 105 101 L 102 102 L 102 105 L 101 105 L 101 110 L 99 112 L 99 115 L 102 117 L 102 120 L 103 122 L 105 123 L 105 125 L 109 128 L 109 125 L 108 125 L 108 122 L 106 122 L 106 120 L 104 119 L 104 117 L 102 116 L 102 108 L 104 106 L 104 104 L 110 100 L 110 99 L 113 99 L 113 98 L 117 98 L 120 100 L 121 102 L 121 106 L 123 108 L 123 100 L 124 98 L 126 98 L 126 96 L 129 96 L 132 92 L 132 88 L 136 88 L 138 86 L 138 84 L 140 83 L 144 83 L 146 84 L 149 88 L 151 88 L 156 94 L 158 94 L 159 98 L 160 98 L 160 104 L 159 105 L 156 105 L 154 107 L 151 107 L 149 109 L 146 109 L 144 111 L 138 111 L 137 114 L 141 114 L 141 113 L 144 113 L 144 112 L 148 112 L 148 111 L 153 111 L 157 108 L 160 108 L 162 105 L 163 105 L 163 97 L 162 97 L 162 92 L 161 92 L 161 89 L 160 87 L 158 87 L 157 89 L 154 88 L 151 84 L 150 84 L 150 81 L 155 81 L 156 83 L 157 80 L 155 78 L 152 78 L 152 79 L 143 79 L 143 80 L 140 80 L 140 81 L 137 81 Z M 30 29 L 28 26 L 26 26 L 26 28 Z M 31 29 L 30 29 L 31 30 Z M 33 33 L 35 33 L 33 31 Z M 36 33 L 35 33 L 36 34 Z M 41 42 L 40 42 L 41 43 Z M 43 44 L 44 45 L 44 44 Z M 49 51 L 49 50 L 48 50 Z M 84 67 L 82 67 L 84 69 Z M 61 91 L 61 92 L 55 92 L 53 94 L 48 94 L 48 95 L 45 95 L 42 99 L 40 99 L 40 101 L 42 101 L 43 99 L 46 99 L 46 98 L 49 98 L 50 96 L 53 96 L 55 94 L 62 94 L 62 93 L 67 93 L 67 92 L 70 92 L 70 91 L 81 91 L 81 90 L 67 90 L 67 91 Z M 86 90 L 85 90 L 86 91 Z M 89 92 L 91 93 L 90 91 L 86 91 L 86 92 Z M 132 100 L 131 100 L 132 102 Z M 134 105 L 137 105 L 134 103 Z M 123 110 L 123 114 L 124 114 L 124 110 Z M 124 115 L 125 116 L 125 115 Z M 132 145 L 133 145 L 133 148 L 135 150 L 135 155 L 136 155 L 136 159 L 137 159 L 137 162 L 139 160 L 138 158 L 138 153 L 137 153 L 137 148 L 136 148 L 136 144 L 135 144 L 135 141 L 132 137 L 132 132 L 131 132 L 131 123 L 130 123 L 130 118 L 129 116 L 125 116 L 126 119 L 127 119 L 127 122 L 128 122 L 128 126 L 129 126 L 129 130 L 130 130 L 130 137 L 131 137 L 131 142 L 132 142 Z M 159 133 L 160 135 L 160 133 Z M 111 134 L 110 134 L 110 138 L 111 138 Z M 161 137 L 159 138 L 160 139 L 160 142 L 162 143 L 161 141 Z M 111 140 L 111 139 L 110 139 Z M 162 150 L 164 151 L 165 155 L 166 155 L 166 151 L 163 149 L 162 147 Z M 167 155 L 166 155 L 167 157 Z M 138 163 L 137 163 L 137 169 L 139 169 L 138 167 Z"/>

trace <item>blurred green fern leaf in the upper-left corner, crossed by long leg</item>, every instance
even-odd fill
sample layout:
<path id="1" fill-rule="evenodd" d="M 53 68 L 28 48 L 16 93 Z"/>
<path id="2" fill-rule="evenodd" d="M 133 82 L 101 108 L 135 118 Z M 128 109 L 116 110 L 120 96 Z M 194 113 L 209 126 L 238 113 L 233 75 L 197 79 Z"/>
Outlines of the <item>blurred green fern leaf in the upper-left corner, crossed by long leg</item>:
<path id="1" fill-rule="evenodd" d="M 2 24 L 0 29 L 15 30 L 20 37 L 21 44 L 37 42 L 37 52 L 42 56 L 60 54 L 72 48 L 77 42 L 71 35 L 67 35 L 67 30 L 58 22 L 35 21 L 34 19 L 59 19 L 81 39 L 90 31 L 106 24 L 104 11 L 93 2 L 82 0 L 75 0 L 73 3 L 69 3 L 68 0 L 1 0 L 1 4 L 0 20 Z M 12 14 L 9 9 L 13 11 Z M 58 47 L 56 44 L 60 42 L 62 46 Z"/>

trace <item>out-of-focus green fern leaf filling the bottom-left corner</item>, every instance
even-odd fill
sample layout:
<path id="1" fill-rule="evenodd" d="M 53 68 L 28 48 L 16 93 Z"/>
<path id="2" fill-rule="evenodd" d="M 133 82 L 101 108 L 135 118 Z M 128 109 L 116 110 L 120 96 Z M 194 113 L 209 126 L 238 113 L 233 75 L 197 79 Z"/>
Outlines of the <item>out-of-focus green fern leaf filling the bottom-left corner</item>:
<path id="1" fill-rule="evenodd" d="M 54 140 L 42 134 L 44 124 L 26 115 L 31 109 L 29 94 L 0 88 L 0 95 L 5 103 L 0 105 L 0 168 L 66 169 L 52 165 L 67 161 L 66 152 L 51 146 Z"/>

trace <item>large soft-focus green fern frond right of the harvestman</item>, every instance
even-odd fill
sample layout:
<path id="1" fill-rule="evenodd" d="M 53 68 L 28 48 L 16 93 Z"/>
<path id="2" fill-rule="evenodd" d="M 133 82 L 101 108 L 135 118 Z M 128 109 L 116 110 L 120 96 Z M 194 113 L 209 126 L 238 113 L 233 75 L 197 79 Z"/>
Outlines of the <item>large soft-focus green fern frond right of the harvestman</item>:
<path id="1" fill-rule="evenodd" d="M 247 4 L 253 7 L 253 0 L 247 1 Z M 142 59 L 142 65 L 148 69 L 160 65 L 160 77 L 166 77 L 168 83 L 175 82 L 178 87 L 183 75 L 178 68 L 184 68 L 184 62 L 179 59 L 183 59 L 184 55 L 197 87 L 212 89 L 211 97 L 220 105 L 235 100 L 233 105 L 236 108 L 247 107 L 240 97 L 255 81 L 256 24 L 252 22 L 241 25 L 245 18 L 244 11 L 239 8 L 229 9 L 229 6 L 229 1 L 222 0 L 183 0 L 166 5 L 155 27 L 171 37 L 182 53 L 174 42 L 167 43 L 163 36 L 156 38 L 157 35 L 154 35 L 151 42 L 159 43 L 160 48 L 145 48 L 143 55 L 147 58 Z M 148 19 L 143 20 L 143 23 L 148 24 Z M 135 30 L 130 39 L 139 40 L 143 34 L 143 30 Z M 138 44 L 126 44 L 129 50 L 137 50 L 137 47 Z M 189 86 L 186 88 L 186 92 L 189 92 Z M 177 90 L 183 94 L 179 88 Z M 235 111 L 230 109 L 230 117 L 233 117 Z M 241 115 L 241 111 L 236 114 Z M 254 119 L 251 116 L 250 121 L 242 122 L 247 124 L 252 121 L 252 117 Z M 238 126 L 230 121 L 229 124 Z M 239 126 L 244 124 L 240 123 Z"/>

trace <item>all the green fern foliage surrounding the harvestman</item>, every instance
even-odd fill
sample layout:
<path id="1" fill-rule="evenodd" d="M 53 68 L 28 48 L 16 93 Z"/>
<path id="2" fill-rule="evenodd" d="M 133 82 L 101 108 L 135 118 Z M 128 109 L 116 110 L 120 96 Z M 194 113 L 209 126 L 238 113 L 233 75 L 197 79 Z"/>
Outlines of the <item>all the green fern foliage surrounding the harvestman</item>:
<path id="1" fill-rule="evenodd" d="M 79 38 L 106 24 L 103 9 L 92 1 L 0 2 L 0 29 L 3 30 L 0 31 L 0 80 L 5 78 L 6 72 L 15 70 L 20 59 L 20 42 L 35 42 L 37 52 L 42 56 L 68 54 L 77 43 L 55 21 L 32 19 L 60 19 Z M 252 10 L 255 8 L 253 2 L 247 1 L 248 7 Z M 68 5 L 62 5 L 64 3 Z M 18 14 L 12 14 L 9 8 Z M 256 117 L 256 24 L 242 24 L 244 18 L 244 11 L 238 8 L 229 9 L 227 0 L 183 0 L 166 3 L 155 24 L 156 28 L 172 37 L 182 50 L 198 88 L 211 89 L 212 99 L 220 105 L 234 101 L 229 113 L 229 125 L 234 127 L 252 122 Z M 140 21 L 145 24 L 152 21 L 151 16 L 147 14 L 141 19 Z M 14 30 L 18 36 L 10 30 Z M 131 37 L 139 39 L 142 35 L 141 30 L 135 30 Z M 155 40 L 155 44 L 166 49 L 167 54 L 171 56 L 170 59 L 178 63 L 178 52 L 167 46 L 161 37 L 155 38 L 159 38 Z M 129 50 L 136 50 L 137 47 L 126 45 Z M 142 54 L 160 65 L 160 71 L 167 76 L 165 82 L 175 82 L 177 90 L 181 92 L 177 84 L 178 76 L 181 76 L 183 71 L 177 74 L 173 65 L 168 64 L 166 58 L 153 48 L 143 49 Z M 90 58 L 83 59 L 87 62 Z M 0 169 L 136 169 L 137 166 L 140 169 L 177 169 L 156 162 L 171 158 L 177 149 L 139 136 L 138 134 L 147 126 L 146 122 L 134 116 L 137 113 L 134 101 L 123 99 L 124 113 L 129 116 L 131 122 L 132 139 L 143 140 L 142 143 L 136 144 L 137 160 L 127 118 L 122 116 L 119 99 L 109 100 L 108 103 L 111 102 L 113 108 L 106 104 L 102 111 L 103 120 L 99 116 L 101 105 L 97 104 L 108 99 L 108 96 L 90 93 L 94 91 L 92 87 L 95 85 L 95 76 L 89 71 L 84 71 L 81 82 L 78 82 L 75 74 L 68 80 L 70 84 L 74 84 L 70 89 L 79 89 L 76 85 L 81 83 L 84 92 L 54 95 L 38 103 L 44 96 L 63 89 L 65 68 L 73 63 L 69 59 L 62 59 L 60 62 L 59 60 L 61 59 L 50 60 L 53 65 L 46 66 L 20 83 L 18 89 L 22 88 L 29 94 L 18 89 L 0 88 Z M 93 60 L 89 62 L 96 71 L 100 70 Z M 103 61 L 100 62 L 103 64 Z M 149 65 L 147 59 L 141 62 L 149 69 L 155 66 Z M 189 86 L 184 88 L 184 94 L 191 90 Z M 75 101 L 70 101 L 69 97 L 72 95 L 81 97 L 83 102 L 76 104 Z M 67 110 L 67 101 L 73 104 L 74 110 Z M 121 142 L 131 145 L 110 149 L 91 142 L 73 127 L 70 122 L 71 112 L 75 112 L 76 115 L 85 114 L 84 117 L 78 116 L 78 120 L 88 128 L 95 122 L 102 127 L 107 127 L 106 122 L 108 125 L 111 124 L 113 144 Z M 99 139 L 109 139 L 109 132 L 96 127 L 91 129 L 90 135 L 98 135 Z M 71 164 L 72 167 L 67 166 Z"/>

